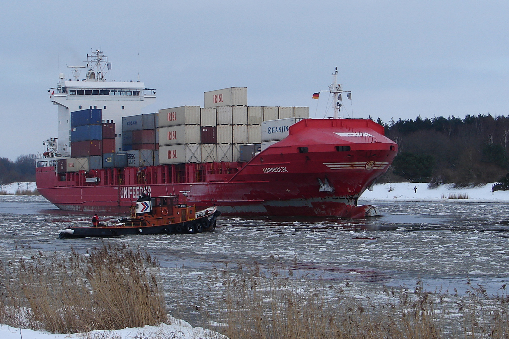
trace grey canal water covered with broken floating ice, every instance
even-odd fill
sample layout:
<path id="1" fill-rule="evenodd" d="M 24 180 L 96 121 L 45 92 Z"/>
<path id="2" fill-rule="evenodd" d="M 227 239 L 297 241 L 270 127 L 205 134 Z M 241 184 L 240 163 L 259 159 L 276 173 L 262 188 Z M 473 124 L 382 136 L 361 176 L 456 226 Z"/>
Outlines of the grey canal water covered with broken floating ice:
<path id="1" fill-rule="evenodd" d="M 59 239 L 66 226 L 88 226 L 91 213 L 57 209 L 43 197 L 0 196 L 0 260 L 85 253 L 127 244 L 157 257 L 173 306 L 206 306 L 204 280 L 224 267 L 280 267 L 317 283 L 350 282 L 364 289 L 414 286 L 462 294 L 467 279 L 494 295 L 509 283 L 509 209 L 501 203 L 372 203 L 382 217 L 221 217 L 213 233 Z M 101 221 L 119 215 L 100 215 Z M 172 305 L 170 305 L 172 306 Z"/>

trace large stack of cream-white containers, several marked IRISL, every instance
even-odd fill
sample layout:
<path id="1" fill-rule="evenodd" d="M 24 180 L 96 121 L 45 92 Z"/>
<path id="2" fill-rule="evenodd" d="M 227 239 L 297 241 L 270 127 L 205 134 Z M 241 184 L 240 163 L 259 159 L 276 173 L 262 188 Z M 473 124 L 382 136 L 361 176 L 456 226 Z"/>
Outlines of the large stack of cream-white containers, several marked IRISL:
<path id="1" fill-rule="evenodd" d="M 161 164 L 249 161 L 261 151 L 263 121 L 309 115 L 308 107 L 247 106 L 246 87 L 205 92 L 204 101 L 159 110 Z"/>

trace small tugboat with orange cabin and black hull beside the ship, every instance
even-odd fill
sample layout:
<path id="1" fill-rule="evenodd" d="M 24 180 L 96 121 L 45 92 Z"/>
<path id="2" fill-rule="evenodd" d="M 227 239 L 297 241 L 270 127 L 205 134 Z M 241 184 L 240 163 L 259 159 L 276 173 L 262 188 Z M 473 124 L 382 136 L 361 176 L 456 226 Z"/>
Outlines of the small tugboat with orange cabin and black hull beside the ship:
<path id="1" fill-rule="evenodd" d="M 180 203 L 178 196 L 152 198 L 144 194 L 136 200 L 136 205 L 131 206 L 131 218 L 121 219 L 117 225 L 68 227 L 59 231 L 59 238 L 211 232 L 216 228 L 216 218 L 220 214 L 215 206 L 196 211 L 194 205 Z"/>

